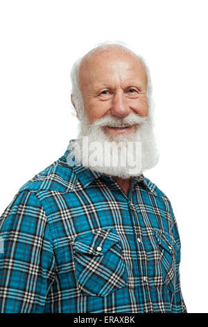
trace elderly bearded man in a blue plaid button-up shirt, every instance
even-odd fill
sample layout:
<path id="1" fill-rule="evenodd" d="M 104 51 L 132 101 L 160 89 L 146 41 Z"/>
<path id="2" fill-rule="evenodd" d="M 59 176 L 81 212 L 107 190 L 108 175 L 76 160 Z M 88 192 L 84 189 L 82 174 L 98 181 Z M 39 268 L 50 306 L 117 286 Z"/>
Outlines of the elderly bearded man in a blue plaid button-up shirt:
<path id="1" fill-rule="evenodd" d="M 1 216 L 1 312 L 187 312 L 171 202 L 143 175 L 158 160 L 148 68 L 101 45 L 71 78 L 78 138 Z"/>

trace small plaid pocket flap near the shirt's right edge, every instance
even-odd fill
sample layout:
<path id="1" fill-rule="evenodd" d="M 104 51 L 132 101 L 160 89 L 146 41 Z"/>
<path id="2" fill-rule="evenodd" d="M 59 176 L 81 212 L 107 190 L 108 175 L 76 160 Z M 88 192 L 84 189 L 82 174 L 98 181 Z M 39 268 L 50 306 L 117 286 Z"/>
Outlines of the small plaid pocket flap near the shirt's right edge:
<path id="1" fill-rule="evenodd" d="M 153 231 L 158 244 L 162 246 L 162 248 L 164 248 L 168 253 L 173 254 L 179 249 L 179 246 L 176 244 L 171 235 L 168 234 L 168 232 L 157 229 L 154 229 Z"/>

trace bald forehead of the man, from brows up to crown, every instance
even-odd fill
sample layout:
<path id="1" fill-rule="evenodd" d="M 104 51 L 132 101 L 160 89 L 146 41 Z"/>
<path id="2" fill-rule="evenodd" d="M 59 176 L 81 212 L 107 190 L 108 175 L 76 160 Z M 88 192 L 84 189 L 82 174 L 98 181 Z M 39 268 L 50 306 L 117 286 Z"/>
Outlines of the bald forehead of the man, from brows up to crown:
<path id="1" fill-rule="evenodd" d="M 129 51 L 108 50 L 94 52 L 83 57 L 80 63 L 78 79 L 80 86 L 92 83 L 96 79 L 105 79 L 105 75 L 116 74 L 124 68 L 132 77 L 139 77 L 148 83 L 144 64 L 138 56 Z"/>

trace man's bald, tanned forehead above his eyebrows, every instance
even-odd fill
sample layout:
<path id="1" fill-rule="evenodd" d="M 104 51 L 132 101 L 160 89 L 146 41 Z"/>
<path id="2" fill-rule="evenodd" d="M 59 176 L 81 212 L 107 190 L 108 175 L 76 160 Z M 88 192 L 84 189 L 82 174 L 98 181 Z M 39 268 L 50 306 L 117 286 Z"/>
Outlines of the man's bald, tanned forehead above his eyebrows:
<path id="1" fill-rule="evenodd" d="M 147 74 L 139 58 L 128 51 L 103 51 L 89 58 L 83 58 L 80 64 L 80 86 L 85 87 L 107 84 L 113 81 L 139 82 L 147 84 Z"/>

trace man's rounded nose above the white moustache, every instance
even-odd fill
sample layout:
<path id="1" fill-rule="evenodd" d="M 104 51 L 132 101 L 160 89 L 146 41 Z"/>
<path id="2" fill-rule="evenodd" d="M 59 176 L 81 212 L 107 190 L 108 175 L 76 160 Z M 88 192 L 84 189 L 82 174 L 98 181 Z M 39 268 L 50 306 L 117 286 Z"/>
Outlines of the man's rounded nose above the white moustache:
<path id="1" fill-rule="evenodd" d="M 114 97 L 112 98 L 112 108 L 110 111 L 112 115 L 116 115 L 117 117 L 125 117 L 130 113 L 127 99 L 122 92 L 114 93 Z"/>

